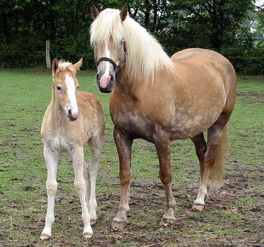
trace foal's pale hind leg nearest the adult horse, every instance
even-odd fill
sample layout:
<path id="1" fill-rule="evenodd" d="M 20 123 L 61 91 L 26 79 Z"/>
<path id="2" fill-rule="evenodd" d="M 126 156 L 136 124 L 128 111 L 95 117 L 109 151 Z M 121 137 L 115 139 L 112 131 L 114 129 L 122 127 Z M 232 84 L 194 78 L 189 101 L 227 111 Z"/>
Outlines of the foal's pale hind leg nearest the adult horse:
<path id="1" fill-rule="evenodd" d="M 103 134 L 101 131 L 96 132 L 96 134 L 93 134 L 91 136 L 88 142 L 91 149 L 91 161 L 87 166 L 90 181 L 86 182 L 86 186 L 87 183 L 89 184 L 89 187 L 86 189 L 86 202 L 87 205 L 89 206 L 91 225 L 95 224 L 97 220 L 97 216 L 96 216 L 97 202 L 95 197 L 95 187 L 96 187 L 97 173 L 99 171 L 99 156 L 101 153 L 102 137 Z"/>

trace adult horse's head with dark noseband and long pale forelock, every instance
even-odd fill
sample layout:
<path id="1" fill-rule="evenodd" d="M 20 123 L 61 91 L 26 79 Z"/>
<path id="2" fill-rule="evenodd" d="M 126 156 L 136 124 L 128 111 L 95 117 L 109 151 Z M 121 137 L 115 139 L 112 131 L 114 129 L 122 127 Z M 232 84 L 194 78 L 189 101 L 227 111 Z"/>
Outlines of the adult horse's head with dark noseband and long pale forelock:
<path id="1" fill-rule="evenodd" d="M 97 65 L 96 81 L 102 93 L 112 91 L 118 69 L 126 62 L 126 40 L 122 32 L 122 22 L 127 14 L 126 5 L 120 12 L 106 9 L 99 13 L 95 6 L 92 7 L 94 22 L 91 26 L 91 43 Z"/>

